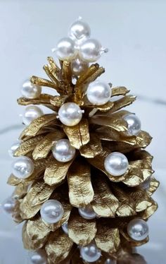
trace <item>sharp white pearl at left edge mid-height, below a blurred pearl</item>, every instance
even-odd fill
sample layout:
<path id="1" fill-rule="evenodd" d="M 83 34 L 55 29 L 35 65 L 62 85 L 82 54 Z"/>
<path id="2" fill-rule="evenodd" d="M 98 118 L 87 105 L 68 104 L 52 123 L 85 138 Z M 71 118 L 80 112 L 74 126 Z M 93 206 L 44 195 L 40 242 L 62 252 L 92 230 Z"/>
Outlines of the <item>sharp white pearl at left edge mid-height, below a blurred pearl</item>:
<path id="1" fill-rule="evenodd" d="M 34 164 L 30 157 L 16 157 L 12 164 L 12 173 L 18 178 L 30 176 L 34 171 Z"/>

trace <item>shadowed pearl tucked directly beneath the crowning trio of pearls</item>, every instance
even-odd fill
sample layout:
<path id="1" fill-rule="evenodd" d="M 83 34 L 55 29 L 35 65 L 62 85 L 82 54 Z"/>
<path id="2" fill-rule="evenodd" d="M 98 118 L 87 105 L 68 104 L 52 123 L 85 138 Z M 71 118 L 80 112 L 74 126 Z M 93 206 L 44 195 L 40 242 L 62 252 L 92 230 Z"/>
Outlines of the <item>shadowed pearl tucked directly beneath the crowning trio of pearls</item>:
<path id="1" fill-rule="evenodd" d="M 87 62 L 82 61 L 79 58 L 77 58 L 73 60 L 71 64 L 72 74 L 74 76 L 79 76 L 84 71 L 86 71 L 88 67 L 89 67 L 89 64 Z"/>

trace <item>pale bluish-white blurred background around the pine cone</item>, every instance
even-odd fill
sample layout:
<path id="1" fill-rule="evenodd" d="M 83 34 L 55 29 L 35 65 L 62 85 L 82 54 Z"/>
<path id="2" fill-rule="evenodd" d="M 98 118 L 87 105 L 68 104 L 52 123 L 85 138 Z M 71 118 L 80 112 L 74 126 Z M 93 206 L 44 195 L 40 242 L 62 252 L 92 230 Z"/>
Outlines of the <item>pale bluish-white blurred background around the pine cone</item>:
<path id="1" fill-rule="evenodd" d="M 99 61 L 106 68 L 105 80 L 138 95 L 130 110 L 153 136 L 148 150 L 161 181 L 154 196 L 159 210 L 149 221 L 151 240 L 139 252 L 148 264 L 165 263 L 165 0 L 0 0 L 0 201 L 12 191 L 6 185 L 11 166 L 8 148 L 23 129 L 19 116 L 23 107 L 16 103 L 20 85 L 32 74 L 46 77 L 42 70 L 46 57 L 78 16 L 87 20 L 92 36 L 109 49 Z M 27 263 L 20 227 L 0 214 L 0 264 Z"/>

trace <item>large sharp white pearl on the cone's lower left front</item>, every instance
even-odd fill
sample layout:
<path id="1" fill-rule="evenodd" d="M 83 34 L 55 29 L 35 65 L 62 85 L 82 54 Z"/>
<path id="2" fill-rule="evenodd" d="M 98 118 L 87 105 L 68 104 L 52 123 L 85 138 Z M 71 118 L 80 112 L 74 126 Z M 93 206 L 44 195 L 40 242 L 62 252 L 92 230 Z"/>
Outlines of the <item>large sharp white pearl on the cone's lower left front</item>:
<path id="1" fill-rule="evenodd" d="M 64 214 L 63 205 L 58 200 L 47 200 L 41 205 L 41 219 L 48 224 L 59 222 Z"/>

